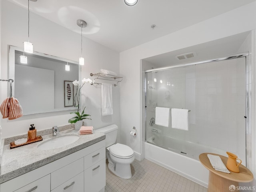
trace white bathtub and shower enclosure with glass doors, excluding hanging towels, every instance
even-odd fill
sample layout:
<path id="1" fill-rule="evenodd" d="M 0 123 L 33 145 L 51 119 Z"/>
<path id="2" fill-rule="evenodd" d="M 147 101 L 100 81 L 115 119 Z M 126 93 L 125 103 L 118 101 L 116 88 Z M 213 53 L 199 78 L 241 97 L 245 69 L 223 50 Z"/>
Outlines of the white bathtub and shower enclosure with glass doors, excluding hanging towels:
<path id="1" fill-rule="evenodd" d="M 237 154 L 246 166 L 248 53 L 145 72 L 145 158 L 208 186 L 202 153 Z M 143 62 L 142 62 L 143 64 Z M 188 109 L 188 130 L 155 124 L 156 107 Z"/>

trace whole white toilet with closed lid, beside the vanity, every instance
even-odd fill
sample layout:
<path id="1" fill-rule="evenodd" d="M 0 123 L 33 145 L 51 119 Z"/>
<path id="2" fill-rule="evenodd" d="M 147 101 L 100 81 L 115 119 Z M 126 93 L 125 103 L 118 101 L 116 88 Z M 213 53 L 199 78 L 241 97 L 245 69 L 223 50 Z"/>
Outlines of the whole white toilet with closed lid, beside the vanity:
<path id="1" fill-rule="evenodd" d="M 106 157 L 108 169 L 116 176 L 129 179 L 132 177 L 130 164 L 134 161 L 134 151 L 127 145 L 116 143 L 117 125 L 98 129 L 106 135 Z"/>

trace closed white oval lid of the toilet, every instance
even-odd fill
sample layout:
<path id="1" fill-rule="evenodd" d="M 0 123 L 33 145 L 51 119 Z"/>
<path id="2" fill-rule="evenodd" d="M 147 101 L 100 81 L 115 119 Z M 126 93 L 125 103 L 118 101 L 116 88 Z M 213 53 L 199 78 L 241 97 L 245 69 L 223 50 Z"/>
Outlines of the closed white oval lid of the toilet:
<path id="1" fill-rule="evenodd" d="M 120 143 L 110 146 L 109 152 L 117 158 L 130 158 L 134 155 L 132 148 Z"/>

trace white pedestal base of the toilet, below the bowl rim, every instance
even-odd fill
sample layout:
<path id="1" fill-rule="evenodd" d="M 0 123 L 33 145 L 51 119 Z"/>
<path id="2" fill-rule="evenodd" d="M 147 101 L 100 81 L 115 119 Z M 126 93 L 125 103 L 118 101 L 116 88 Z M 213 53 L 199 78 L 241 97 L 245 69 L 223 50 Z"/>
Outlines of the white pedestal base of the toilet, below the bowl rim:
<path id="1" fill-rule="evenodd" d="M 108 169 L 116 176 L 124 179 L 130 179 L 132 177 L 130 164 L 118 164 L 116 166 L 108 163 Z"/>

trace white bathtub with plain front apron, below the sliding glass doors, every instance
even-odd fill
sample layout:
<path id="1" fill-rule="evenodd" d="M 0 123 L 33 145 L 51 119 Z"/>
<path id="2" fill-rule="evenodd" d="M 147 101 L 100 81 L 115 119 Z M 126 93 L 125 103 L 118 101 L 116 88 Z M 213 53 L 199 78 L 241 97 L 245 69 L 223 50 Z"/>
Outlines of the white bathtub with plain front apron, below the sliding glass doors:
<path id="1" fill-rule="evenodd" d="M 183 142 L 183 143 L 182 143 Z M 198 184 L 208 187 L 208 170 L 198 156 L 204 152 L 223 154 L 222 150 L 192 142 L 184 142 L 163 134 L 156 134 L 144 142 L 144 157 Z"/>

